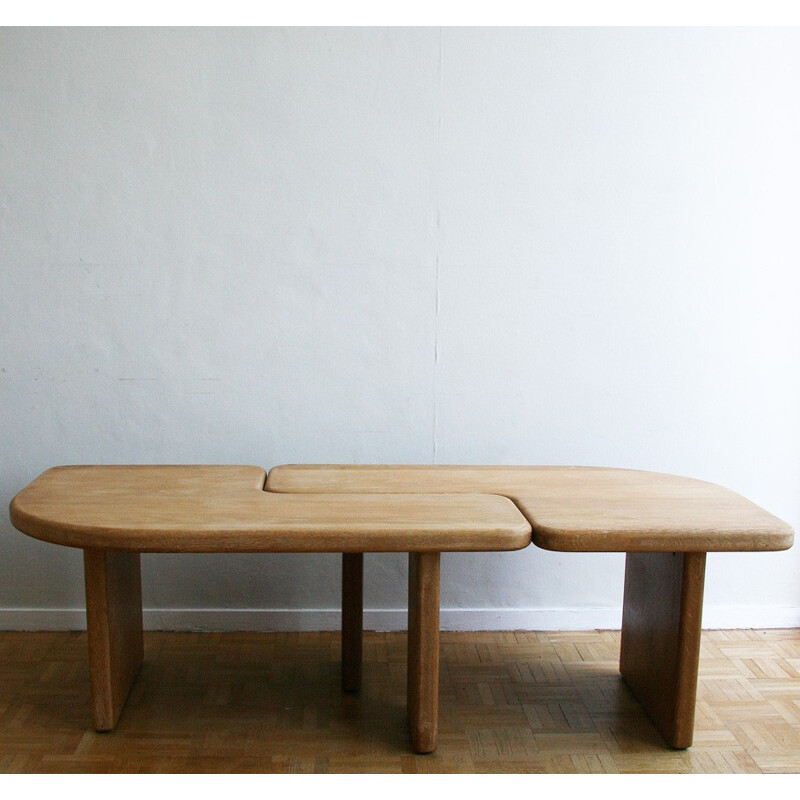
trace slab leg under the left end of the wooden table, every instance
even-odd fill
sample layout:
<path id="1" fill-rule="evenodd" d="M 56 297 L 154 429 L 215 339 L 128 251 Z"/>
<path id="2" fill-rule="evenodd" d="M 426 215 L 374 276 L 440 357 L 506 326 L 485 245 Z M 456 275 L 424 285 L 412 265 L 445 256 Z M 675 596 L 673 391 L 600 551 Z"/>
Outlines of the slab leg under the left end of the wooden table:
<path id="1" fill-rule="evenodd" d="M 84 550 L 92 718 L 98 731 L 119 719 L 144 655 L 139 553 Z"/>

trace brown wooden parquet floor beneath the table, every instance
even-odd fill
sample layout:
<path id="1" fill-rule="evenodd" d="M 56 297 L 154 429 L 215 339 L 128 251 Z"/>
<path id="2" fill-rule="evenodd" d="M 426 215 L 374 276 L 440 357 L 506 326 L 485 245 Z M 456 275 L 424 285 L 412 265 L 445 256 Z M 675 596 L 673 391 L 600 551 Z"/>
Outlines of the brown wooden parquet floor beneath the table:
<path id="1" fill-rule="evenodd" d="M 618 632 L 443 633 L 439 747 L 409 752 L 405 634 L 147 633 L 114 733 L 89 721 L 85 633 L 0 633 L 0 772 L 800 772 L 800 629 L 703 634 L 695 743 L 664 747 Z"/>

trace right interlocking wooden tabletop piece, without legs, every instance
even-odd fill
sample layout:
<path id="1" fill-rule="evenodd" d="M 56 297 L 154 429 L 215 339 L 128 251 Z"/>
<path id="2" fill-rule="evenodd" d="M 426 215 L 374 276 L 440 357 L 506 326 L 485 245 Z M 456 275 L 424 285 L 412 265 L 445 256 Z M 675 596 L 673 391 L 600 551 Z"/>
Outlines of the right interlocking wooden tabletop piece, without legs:
<path id="1" fill-rule="evenodd" d="M 599 467 L 274 467 L 271 492 L 489 492 L 512 499 L 547 550 L 712 552 L 785 550 L 789 525 L 705 481 Z"/>

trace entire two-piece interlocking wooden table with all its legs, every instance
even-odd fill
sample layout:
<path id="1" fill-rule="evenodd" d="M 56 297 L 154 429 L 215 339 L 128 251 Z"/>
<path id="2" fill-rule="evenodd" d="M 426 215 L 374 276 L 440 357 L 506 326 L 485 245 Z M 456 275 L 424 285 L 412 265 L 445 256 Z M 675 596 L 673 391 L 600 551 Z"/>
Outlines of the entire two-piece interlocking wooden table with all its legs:
<path id="1" fill-rule="evenodd" d="M 350 690 L 360 683 L 362 554 L 409 552 L 417 752 L 437 743 L 442 551 L 521 549 L 532 530 L 548 549 L 627 552 L 622 673 L 665 741 L 685 748 L 706 551 L 780 550 L 793 539 L 781 520 L 713 484 L 564 467 L 286 466 L 266 486 L 257 467 L 61 467 L 14 498 L 11 518 L 32 536 L 86 550 L 94 718 L 103 730 L 141 664 L 139 552 L 342 552 Z"/>

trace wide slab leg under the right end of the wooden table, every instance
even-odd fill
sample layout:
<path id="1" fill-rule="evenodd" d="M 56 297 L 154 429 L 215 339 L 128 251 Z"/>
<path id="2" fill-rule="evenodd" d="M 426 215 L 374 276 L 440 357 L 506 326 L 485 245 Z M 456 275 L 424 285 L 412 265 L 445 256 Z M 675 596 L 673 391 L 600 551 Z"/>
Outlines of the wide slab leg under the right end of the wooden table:
<path id="1" fill-rule="evenodd" d="M 628 553 L 620 672 L 671 747 L 692 744 L 705 553 Z"/>

